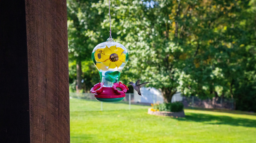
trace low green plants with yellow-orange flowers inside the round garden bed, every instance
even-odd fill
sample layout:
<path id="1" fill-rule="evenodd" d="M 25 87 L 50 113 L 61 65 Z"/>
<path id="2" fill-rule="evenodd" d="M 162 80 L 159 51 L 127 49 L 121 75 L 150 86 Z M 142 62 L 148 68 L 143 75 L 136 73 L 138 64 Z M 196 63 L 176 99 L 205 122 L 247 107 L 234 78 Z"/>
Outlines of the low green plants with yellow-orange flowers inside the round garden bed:
<path id="1" fill-rule="evenodd" d="M 183 104 L 181 102 L 174 103 L 161 103 L 161 104 L 151 104 L 153 109 L 157 111 L 168 111 L 168 112 L 180 112 L 183 110 Z"/>

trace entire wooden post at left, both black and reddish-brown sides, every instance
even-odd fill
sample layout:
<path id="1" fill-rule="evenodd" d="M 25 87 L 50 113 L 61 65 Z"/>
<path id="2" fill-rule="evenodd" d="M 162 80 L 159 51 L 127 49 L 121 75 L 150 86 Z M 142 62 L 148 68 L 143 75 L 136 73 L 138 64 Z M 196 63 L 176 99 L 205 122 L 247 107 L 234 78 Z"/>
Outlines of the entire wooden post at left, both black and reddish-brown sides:
<path id="1" fill-rule="evenodd" d="M 68 143 L 66 1 L 0 1 L 0 141 Z"/>

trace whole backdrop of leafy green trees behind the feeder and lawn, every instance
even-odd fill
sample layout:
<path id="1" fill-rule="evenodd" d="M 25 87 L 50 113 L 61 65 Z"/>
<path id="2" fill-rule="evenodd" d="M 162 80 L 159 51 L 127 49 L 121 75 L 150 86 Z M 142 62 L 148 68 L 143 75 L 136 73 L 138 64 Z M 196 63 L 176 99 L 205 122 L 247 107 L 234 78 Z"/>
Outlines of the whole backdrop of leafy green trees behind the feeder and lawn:
<path id="1" fill-rule="evenodd" d="M 100 81 L 91 52 L 109 37 L 108 1 L 67 8 L 71 90 L 88 92 Z M 121 82 L 149 81 L 166 102 L 181 91 L 256 112 L 256 0 L 113 0 L 111 24 L 129 52 Z"/>

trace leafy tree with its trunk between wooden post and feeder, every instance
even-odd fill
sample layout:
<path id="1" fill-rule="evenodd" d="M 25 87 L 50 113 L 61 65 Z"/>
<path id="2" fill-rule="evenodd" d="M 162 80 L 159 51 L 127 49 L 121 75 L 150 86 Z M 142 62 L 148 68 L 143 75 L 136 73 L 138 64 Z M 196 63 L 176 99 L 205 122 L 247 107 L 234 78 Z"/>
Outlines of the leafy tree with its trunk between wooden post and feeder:
<path id="1" fill-rule="evenodd" d="M 73 64 L 76 66 L 76 77 L 73 76 L 73 79 L 76 79 L 77 91 L 82 89 L 81 81 L 84 78 L 86 78 L 84 86 L 92 85 L 92 81 L 88 79 L 88 74 L 95 74 L 96 71 L 82 72 L 82 62 L 87 61 L 92 65 L 91 52 L 89 51 L 92 51 L 98 42 L 103 41 L 99 29 L 101 29 L 100 21 L 102 21 L 104 15 L 98 14 L 99 9 L 93 6 L 94 2 L 99 1 L 67 1 L 69 61 L 76 63 L 75 65 Z M 71 69 L 70 67 L 70 71 Z M 72 83 L 73 81 L 70 80 L 70 82 Z M 84 87 L 86 90 L 89 88 Z"/>

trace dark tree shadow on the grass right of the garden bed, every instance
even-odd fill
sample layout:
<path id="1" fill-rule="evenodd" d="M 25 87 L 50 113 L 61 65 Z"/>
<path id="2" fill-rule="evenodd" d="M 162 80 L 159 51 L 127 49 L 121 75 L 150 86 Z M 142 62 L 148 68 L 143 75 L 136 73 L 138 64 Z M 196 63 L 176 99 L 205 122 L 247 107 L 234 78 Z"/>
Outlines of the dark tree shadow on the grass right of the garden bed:
<path id="1" fill-rule="evenodd" d="M 256 127 L 256 120 L 253 119 L 232 118 L 229 116 L 213 116 L 201 113 L 189 113 L 185 118 L 177 118 L 177 120 L 203 122 L 205 124 Z"/>

